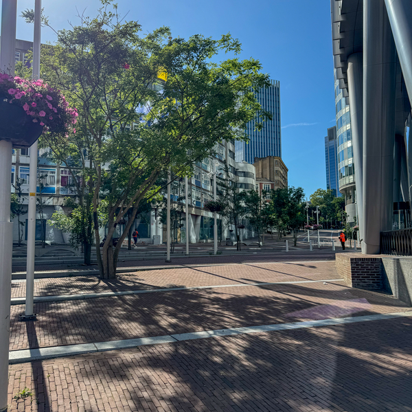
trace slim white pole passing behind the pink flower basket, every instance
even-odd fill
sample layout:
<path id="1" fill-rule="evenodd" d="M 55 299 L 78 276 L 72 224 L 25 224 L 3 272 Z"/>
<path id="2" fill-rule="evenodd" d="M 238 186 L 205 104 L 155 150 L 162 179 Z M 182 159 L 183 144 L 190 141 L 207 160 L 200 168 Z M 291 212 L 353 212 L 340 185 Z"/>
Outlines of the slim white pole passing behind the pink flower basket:
<path id="1" fill-rule="evenodd" d="M 41 49 L 41 0 L 34 6 L 33 80 L 40 78 Z M 29 206 L 27 214 L 27 266 L 25 319 L 33 319 L 34 256 L 36 249 L 36 188 L 37 188 L 37 140 L 30 148 Z"/>

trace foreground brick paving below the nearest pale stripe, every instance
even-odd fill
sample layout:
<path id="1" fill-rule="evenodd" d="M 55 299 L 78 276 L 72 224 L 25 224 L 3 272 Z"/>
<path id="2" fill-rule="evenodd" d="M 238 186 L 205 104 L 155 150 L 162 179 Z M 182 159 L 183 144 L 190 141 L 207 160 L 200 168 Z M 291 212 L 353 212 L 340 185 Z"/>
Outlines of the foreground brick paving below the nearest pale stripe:
<path id="1" fill-rule="evenodd" d="M 411 412 L 411 341 L 403 318 L 13 365 L 10 411 Z"/>

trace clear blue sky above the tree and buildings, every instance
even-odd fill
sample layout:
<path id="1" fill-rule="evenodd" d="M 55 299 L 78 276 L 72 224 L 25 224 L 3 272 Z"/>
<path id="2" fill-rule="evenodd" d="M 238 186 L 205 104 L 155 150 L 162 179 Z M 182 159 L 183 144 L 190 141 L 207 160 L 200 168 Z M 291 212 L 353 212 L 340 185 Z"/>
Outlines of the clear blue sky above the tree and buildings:
<path id="1" fill-rule="evenodd" d="M 218 37 L 230 32 L 242 43 L 241 58 L 257 58 L 263 71 L 280 81 L 282 158 L 289 185 L 309 196 L 326 188 L 324 137 L 334 126 L 334 87 L 330 0 L 117 0 L 128 20 L 144 32 L 167 25 L 174 37 L 191 34 Z M 86 9 L 94 16 L 98 0 L 43 0 L 56 29 L 76 25 Z M 19 12 L 33 0 L 19 0 Z M 32 26 L 18 19 L 17 37 L 32 40 Z M 54 41 L 45 28 L 42 41 Z"/>

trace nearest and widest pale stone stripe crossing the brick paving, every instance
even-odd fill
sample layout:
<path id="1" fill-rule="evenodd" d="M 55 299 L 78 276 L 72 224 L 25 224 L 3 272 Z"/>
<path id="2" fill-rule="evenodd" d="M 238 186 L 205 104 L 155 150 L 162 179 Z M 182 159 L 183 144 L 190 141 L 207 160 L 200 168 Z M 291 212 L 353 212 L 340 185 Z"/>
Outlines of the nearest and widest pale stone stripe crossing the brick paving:
<path id="1" fill-rule="evenodd" d="M 121 341 L 81 343 L 79 345 L 40 347 L 37 349 L 28 350 L 14 350 L 9 352 L 9 363 L 25 363 L 44 359 L 64 358 L 67 356 L 76 356 L 79 354 L 105 352 L 108 350 L 121 350 L 130 347 L 139 347 L 144 345 L 161 345 L 163 343 L 173 343 L 178 341 L 192 341 L 194 339 L 218 338 L 222 336 L 233 336 L 261 332 L 279 332 L 282 330 L 301 328 L 321 328 L 323 326 L 345 325 L 348 323 L 368 321 L 384 321 L 390 319 L 398 319 L 402 317 L 412 317 L 412 310 L 409 310 L 407 312 L 369 314 L 357 317 L 323 319 L 321 321 L 275 323 L 273 325 L 247 326 L 242 328 L 228 328 L 219 330 L 203 330 L 201 332 L 170 334 L 139 339 L 124 339 Z"/>

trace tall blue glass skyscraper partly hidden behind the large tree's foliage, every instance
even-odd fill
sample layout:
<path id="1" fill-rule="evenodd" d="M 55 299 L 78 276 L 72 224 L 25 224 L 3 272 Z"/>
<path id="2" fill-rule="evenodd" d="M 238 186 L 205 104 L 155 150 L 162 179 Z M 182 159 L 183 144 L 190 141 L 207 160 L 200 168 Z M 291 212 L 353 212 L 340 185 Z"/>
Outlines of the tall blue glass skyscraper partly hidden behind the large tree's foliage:
<path id="1" fill-rule="evenodd" d="M 249 122 L 245 133 L 249 143 L 236 141 L 236 161 L 253 164 L 255 157 L 282 157 L 282 142 L 280 128 L 280 82 L 271 80 L 271 86 L 256 93 L 256 98 L 265 111 L 273 115 L 272 120 L 264 122 L 261 131 L 255 130 L 255 122 Z"/>

